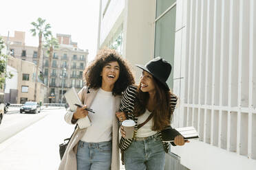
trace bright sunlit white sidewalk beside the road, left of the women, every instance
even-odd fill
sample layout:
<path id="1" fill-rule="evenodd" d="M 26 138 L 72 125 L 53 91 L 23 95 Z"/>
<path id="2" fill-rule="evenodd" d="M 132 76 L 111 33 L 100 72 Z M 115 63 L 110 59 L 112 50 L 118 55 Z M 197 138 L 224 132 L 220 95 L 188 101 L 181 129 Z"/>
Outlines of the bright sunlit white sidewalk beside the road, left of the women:
<path id="1" fill-rule="evenodd" d="M 65 123 L 64 114 L 65 109 L 52 110 L 51 114 L 1 143 L 0 169 L 58 169 L 61 162 L 58 145 L 74 130 L 72 125 Z M 125 168 L 121 166 L 120 169 Z"/>

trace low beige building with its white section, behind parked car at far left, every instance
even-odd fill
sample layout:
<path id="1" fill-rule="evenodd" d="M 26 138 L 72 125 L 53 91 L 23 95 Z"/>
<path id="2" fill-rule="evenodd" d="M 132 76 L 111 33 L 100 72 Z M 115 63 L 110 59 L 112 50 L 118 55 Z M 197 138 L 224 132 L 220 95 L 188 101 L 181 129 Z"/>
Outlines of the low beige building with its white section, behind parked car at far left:
<path id="1" fill-rule="evenodd" d="M 8 58 L 8 70 L 14 75 L 12 79 L 6 80 L 6 101 L 13 104 L 24 104 L 25 101 L 34 101 L 34 87 L 36 78 L 36 64 L 14 58 Z M 37 76 L 39 79 L 39 76 Z M 44 101 L 47 87 L 38 80 L 36 101 Z"/>

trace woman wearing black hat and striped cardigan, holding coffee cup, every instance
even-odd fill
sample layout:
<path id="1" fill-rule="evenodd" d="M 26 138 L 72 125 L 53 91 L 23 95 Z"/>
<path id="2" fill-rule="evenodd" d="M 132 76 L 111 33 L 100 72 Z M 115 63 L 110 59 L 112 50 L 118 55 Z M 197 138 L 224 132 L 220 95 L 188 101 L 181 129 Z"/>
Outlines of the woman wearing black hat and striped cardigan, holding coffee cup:
<path id="1" fill-rule="evenodd" d="M 125 119 L 134 120 L 134 138 L 125 138 L 121 126 L 120 149 L 124 151 L 125 169 L 164 169 L 165 152 L 169 144 L 162 142 L 161 130 L 168 127 L 173 116 L 177 97 L 170 92 L 166 81 L 171 64 L 158 57 L 142 69 L 140 84 L 128 86 L 123 94 L 120 112 L 116 112 L 119 124 Z M 184 145 L 182 136 L 176 136 L 172 145 Z"/>

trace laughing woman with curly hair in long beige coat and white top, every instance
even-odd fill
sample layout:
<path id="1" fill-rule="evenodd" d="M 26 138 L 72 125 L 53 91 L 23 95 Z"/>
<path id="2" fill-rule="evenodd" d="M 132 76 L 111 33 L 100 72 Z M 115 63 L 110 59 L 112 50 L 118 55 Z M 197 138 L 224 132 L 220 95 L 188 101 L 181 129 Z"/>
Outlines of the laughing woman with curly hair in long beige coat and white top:
<path id="1" fill-rule="evenodd" d="M 121 94 L 134 84 L 129 66 L 113 49 L 100 50 L 84 71 L 85 87 L 78 92 L 83 107 L 67 111 L 65 121 L 75 124 L 89 117 L 92 125 L 76 128 L 59 169 L 119 169 L 118 120 Z M 91 108 L 95 113 L 88 112 Z"/>

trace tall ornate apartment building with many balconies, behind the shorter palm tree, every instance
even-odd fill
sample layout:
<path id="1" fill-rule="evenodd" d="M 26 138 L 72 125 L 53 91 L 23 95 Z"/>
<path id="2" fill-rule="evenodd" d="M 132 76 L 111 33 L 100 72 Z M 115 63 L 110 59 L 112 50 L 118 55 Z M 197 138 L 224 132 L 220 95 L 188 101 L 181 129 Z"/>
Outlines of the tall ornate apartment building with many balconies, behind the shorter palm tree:
<path id="1" fill-rule="evenodd" d="M 50 74 L 50 89 L 47 92 L 45 102 L 61 103 L 63 94 L 69 88 L 81 90 L 84 85 L 83 71 L 88 61 L 88 50 L 79 49 L 77 42 L 72 42 L 71 35 L 56 34 L 58 43 L 57 49 L 54 49 L 51 73 L 49 73 L 49 56 L 47 51 L 43 50 L 43 76 L 47 84 L 47 77 Z M 65 103 L 65 97 L 62 98 Z"/>

